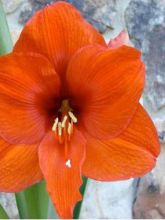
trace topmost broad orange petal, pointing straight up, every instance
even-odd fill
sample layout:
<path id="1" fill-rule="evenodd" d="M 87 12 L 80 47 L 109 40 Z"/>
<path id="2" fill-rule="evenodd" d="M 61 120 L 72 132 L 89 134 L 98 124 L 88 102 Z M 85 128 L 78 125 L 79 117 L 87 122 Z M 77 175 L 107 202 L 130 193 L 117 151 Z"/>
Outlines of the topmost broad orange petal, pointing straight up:
<path id="1" fill-rule="evenodd" d="M 16 51 L 46 55 L 58 73 L 65 72 L 70 57 L 88 44 L 105 46 L 103 37 L 70 4 L 58 2 L 36 13 L 16 43 Z"/>

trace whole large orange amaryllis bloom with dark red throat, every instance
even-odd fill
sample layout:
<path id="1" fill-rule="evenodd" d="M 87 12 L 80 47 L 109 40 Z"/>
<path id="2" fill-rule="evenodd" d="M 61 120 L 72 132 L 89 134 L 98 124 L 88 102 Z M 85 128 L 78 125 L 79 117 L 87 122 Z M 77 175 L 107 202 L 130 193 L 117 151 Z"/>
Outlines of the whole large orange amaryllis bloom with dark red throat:
<path id="1" fill-rule="evenodd" d="M 155 166 L 157 133 L 139 104 L 144 64 L 122 38 L 106 45 L 64 2 L 27 23 L 0 58 L 1 191 L 45 179 L 59 216 L 71 218 L 82 175 L 124 180 Z"/>

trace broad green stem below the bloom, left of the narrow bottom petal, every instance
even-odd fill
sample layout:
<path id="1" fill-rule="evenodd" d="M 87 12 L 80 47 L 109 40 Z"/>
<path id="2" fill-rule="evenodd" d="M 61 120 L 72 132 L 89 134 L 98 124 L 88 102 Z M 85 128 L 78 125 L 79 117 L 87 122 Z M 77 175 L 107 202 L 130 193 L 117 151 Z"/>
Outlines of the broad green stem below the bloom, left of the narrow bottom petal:
<path id="1" fill-rule="evenodd" d="M 51 202 L 42 181 L 23 192 L 16 193 L 16 203 L 21 219 L 57 218 L 54 210 L 50 212 Z"/>

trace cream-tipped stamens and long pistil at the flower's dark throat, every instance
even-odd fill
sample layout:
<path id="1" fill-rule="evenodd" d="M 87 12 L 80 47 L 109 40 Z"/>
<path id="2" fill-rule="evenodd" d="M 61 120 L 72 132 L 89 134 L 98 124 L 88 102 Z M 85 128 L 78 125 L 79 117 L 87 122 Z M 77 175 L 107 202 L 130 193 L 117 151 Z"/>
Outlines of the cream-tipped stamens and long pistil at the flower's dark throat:
<path id="1" fill-rule="evenodd" d="M 69 101 L 65 99 L 61 103 L 61 107 L 58 111 L 58 117 L 54 120 L 52 131 L 55 133 L 55 137 L 59 144 L 63 144 L 65 147 L 65 165 L 68 168 L 71 168 L 71 160 L 68 159 L 68 147 L 74 131 L 75 123 L 77 123 L 77 118 L 69 105 Z"/>

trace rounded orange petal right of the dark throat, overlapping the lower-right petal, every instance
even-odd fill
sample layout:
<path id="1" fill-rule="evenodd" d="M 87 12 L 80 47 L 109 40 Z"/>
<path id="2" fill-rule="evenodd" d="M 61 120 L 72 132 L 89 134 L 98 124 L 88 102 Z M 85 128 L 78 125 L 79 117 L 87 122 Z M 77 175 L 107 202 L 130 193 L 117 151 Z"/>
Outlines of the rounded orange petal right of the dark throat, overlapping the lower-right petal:
<path id="1" fill-rule="evenodd" d="M 130 122 L 144 87 L 140 57 L 140 52 L 131 47 L 105 50 L 90 46 L 71 60 L 69 93 L 81 128 L 95 138 L 114 138 Z"/>

